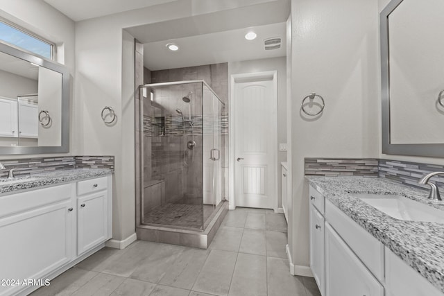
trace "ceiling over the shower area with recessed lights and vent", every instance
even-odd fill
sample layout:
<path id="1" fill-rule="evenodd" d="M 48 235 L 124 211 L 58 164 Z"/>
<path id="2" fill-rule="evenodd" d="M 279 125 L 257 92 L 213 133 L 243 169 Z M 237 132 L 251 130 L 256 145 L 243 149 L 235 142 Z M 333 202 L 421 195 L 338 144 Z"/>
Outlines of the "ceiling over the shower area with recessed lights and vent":
<path id="1" fill-rule="evenodd" d="M 254 31 L 257 34 L 255 40 L 245 39 L 244 36 L 249 31 Z M 144 44 L 144 66 L 155 71 L 202 64 L 282 57 L 286 55 L 286 35 L 286 23 L 278 23 L 149 42 Z M 269 37 L 282 38 L 280 49 L 268 51 L 264 49 L 264 39 Z M 180 49 L 170 51 L 166 46 L 169 42 L 174 42 Z"/>

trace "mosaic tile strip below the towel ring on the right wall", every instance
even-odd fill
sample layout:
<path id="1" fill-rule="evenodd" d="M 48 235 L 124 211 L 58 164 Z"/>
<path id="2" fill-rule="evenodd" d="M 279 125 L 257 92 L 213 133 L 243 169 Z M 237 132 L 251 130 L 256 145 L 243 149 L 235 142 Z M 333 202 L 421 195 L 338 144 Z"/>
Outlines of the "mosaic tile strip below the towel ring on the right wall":
<path id="1" fill-rule="evenodd" d="M 305 175 L 377 177 L 378 159 L 305 158 Z"/>

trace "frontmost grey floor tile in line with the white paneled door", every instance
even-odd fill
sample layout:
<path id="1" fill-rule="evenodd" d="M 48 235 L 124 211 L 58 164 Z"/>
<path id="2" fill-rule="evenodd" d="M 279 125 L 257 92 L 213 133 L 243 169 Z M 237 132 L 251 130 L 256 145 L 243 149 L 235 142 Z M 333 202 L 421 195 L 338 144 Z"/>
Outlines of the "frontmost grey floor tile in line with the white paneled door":
<path id="1" fill-rule="evenodd" d="M 267 296 L 266 256 L 239 253 L 230 296 Z"/>

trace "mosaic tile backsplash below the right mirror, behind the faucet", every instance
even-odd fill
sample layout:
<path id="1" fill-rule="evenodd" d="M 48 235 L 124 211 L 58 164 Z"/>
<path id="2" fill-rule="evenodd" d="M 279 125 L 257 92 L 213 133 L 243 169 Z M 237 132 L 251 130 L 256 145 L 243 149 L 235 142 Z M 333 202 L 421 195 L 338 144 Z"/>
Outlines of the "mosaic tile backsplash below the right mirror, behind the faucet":
<path id="1" fill-rule="evenodd" d="M 420 185 L 418 184 L 418 181 L 424 175 L 436 171 L 444 171 L 444 166 L 437 164 L 420 164 L 418 162 L 402 162 L 399 160 L 379 159 L 379 177 L 416 188 L 428 189 L 429 186 Z M 444 189 L 443 175 L 432 177 L 430 180 L 434 181 L 436 186 Z"/>

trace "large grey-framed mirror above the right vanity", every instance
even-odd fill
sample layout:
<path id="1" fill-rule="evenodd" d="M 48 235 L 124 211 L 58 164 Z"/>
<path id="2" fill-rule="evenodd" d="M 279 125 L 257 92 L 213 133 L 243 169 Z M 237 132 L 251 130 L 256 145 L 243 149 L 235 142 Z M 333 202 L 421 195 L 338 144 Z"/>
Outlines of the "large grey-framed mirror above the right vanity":
<path id="1" fill-rule="evenodd" d="M 442 0 L 392 0 L 380 14 L 382 153 L 444 156 Z"/>

